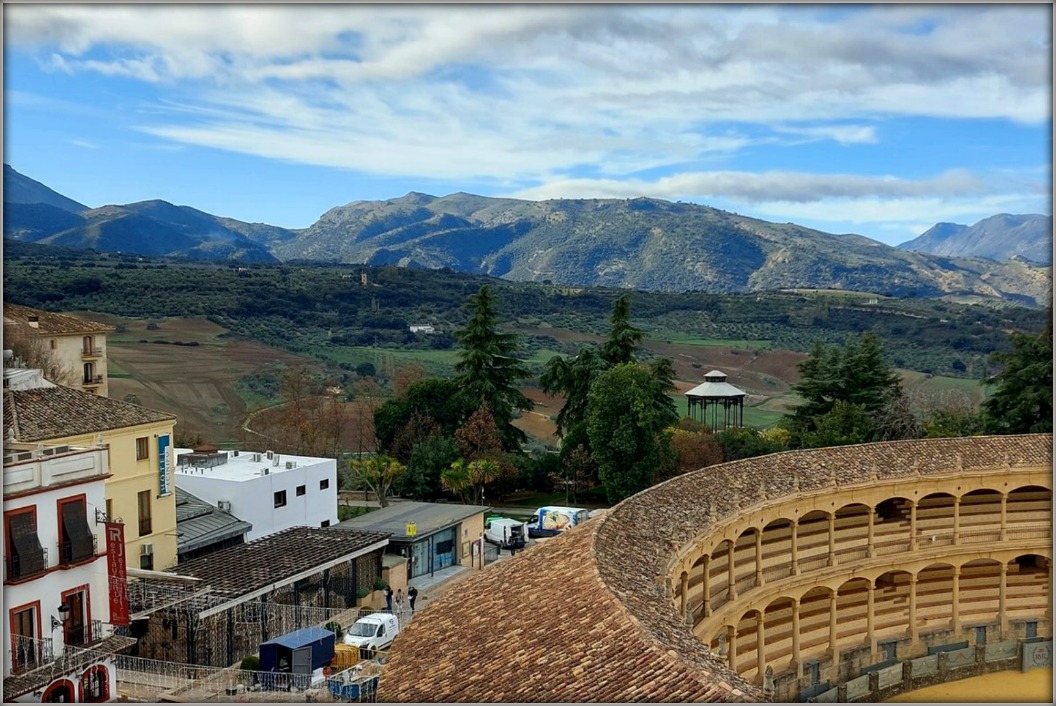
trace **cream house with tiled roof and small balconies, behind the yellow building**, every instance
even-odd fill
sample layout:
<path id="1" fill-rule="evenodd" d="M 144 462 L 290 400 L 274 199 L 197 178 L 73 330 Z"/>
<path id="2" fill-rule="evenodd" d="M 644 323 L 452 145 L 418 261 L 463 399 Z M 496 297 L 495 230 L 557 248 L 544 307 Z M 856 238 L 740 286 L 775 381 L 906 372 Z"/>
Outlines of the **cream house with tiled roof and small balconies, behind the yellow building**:
<path id="1" fill-rule="evenodd" d="M 36 339 L 55 367 L 68 374 L 52 382 L 102 397 L 109 395 L 107 333 L 114 330 L 113 326 L 4 302 L 3 328 L 5 341 Z"/>

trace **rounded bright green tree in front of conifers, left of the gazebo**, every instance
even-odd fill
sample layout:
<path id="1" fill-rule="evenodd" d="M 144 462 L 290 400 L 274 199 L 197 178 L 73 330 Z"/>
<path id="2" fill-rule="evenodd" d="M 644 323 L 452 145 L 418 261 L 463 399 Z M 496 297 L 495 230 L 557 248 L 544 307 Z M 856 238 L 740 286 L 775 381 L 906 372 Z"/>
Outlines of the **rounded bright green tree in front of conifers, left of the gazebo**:
<path id="1" fill-rule="evenodd" d="M 657 406 L 659 386 L 649 369 L 637 363 L 605 370 L 590 386 L 587 434 L 611 503 L 652 485 L 670 461 L 663 431 L 678 417 Z"/>

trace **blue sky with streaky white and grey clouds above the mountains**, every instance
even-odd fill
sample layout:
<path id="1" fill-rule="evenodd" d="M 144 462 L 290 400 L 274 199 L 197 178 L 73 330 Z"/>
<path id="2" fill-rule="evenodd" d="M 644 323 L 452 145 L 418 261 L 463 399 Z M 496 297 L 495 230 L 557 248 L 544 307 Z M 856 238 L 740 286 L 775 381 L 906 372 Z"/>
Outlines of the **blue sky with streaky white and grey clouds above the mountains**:
<path id="1" fill-rule="evenodd" d="M 4 163 L 305 228 L 650 196 L 888 245 L 1052 214 L 1052 5 L 5 4 Z"/>

